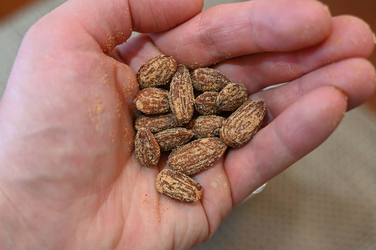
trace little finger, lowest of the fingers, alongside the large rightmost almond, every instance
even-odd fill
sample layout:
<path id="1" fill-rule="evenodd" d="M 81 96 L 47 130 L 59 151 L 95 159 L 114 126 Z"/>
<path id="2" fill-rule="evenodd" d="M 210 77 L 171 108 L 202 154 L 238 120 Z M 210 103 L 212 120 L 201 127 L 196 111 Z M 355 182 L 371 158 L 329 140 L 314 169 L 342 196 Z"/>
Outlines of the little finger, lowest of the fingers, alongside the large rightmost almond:
<path id="1" fill-rule="evenodd" d="M 346 106 L 341 91 L 329 86 L 315 89 L 246 145 L 230 150 L 224 167 L 234 204 L 320 145 L 338 126 Z"/>

